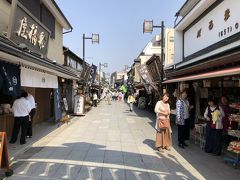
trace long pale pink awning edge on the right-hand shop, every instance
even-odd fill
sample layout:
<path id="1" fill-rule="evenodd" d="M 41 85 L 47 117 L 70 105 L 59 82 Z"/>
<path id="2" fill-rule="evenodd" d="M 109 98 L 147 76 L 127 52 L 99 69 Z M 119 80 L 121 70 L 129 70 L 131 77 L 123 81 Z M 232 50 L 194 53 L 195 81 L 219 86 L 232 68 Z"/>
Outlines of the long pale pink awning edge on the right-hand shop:
<path id="1" fill-rule="evenodd" d="M 193 81 L 193 80 L 199 80 L 199 79 L 209 79 L 209 78 L 222 77 L 222 76 L 231 76 L 231 75 L 236 75 L 236 74 L 240 75 L 240 67 L 170 79 L 170 80 L 164 81 L 163 83 L 166 84 L 166 83 L 174 83 L 174 82 L 182 82 L 182 81 Z"/>

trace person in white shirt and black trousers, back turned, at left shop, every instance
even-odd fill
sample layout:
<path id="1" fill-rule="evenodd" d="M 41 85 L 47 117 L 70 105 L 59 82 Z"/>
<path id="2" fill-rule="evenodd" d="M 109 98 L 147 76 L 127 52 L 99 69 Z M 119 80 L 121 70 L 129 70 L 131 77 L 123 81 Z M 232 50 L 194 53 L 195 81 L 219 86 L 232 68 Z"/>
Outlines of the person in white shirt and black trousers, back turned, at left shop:
<path id="1" fill-rule="evenodd" d="M 27 92 L 22 92 L 21 97 L 16 99 L 12 106 L 14 115 L 14 126 L 12 131 L 12 137 L 9 143 L 14 144 L 17 141 L 18 133 L 21 127 L 20 144 L 26 143 L 26 133 L 29 125 L 29 113 L 31 112 L 31 106 L 26 99 Z"/>

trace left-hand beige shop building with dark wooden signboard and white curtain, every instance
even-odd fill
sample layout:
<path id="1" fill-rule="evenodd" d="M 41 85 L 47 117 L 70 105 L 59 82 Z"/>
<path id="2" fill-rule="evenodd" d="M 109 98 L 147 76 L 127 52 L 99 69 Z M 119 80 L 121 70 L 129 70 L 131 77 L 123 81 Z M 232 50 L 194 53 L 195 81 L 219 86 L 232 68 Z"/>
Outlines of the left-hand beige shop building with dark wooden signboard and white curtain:
<path id="1" fill-rule="evenodd" d="M 61 79 L 80 75 L 65 66 L 63 30 L 72 27 L 55 1 L 0 1 L 0 131 L 11 134 L 11 105 L 20 89 L 31 93 L 33 124 L 62 117 Z"/>

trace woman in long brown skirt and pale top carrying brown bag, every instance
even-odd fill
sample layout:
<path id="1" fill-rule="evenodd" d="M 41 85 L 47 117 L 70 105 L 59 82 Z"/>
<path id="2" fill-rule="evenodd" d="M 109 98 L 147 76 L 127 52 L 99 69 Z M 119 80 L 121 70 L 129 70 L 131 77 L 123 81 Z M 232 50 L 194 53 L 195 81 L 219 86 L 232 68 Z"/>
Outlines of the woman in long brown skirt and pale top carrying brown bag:
<path id="1" fill-rule="evenodd" d="M 170 105 L 168 101 L 169 94 L 164 93 L 162 99 L 157 102 L 154 109 L 156 113 L 155 129 L 157 130 L 155 148 L 161 152 L 163 149 L 170 150 L 170 147 L 172 146 Z"/>

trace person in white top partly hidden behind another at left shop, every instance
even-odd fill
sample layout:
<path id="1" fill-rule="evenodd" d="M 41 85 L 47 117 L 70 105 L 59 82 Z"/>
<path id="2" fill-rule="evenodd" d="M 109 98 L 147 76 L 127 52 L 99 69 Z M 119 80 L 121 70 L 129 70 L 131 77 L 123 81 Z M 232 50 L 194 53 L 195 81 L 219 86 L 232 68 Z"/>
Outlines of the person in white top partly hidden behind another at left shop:
<path id="1" fill-rule="evenodd" d="M 36 104 L 35 104 L 34 97 L 30 93 L 28 93 L 28 96 L 26 99 L 28 100 L 30 107 L 31 107 L 31 111 L 29 113 L 30 119 L 28 122 L 28 129 L 27 129 L 27 137 L 31 138 L 32 137 L 32 122 L 33 122 L 33 118 L 36 114 Z"/>

